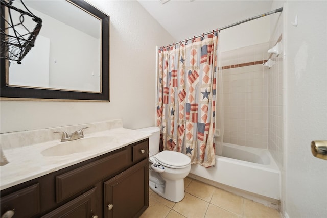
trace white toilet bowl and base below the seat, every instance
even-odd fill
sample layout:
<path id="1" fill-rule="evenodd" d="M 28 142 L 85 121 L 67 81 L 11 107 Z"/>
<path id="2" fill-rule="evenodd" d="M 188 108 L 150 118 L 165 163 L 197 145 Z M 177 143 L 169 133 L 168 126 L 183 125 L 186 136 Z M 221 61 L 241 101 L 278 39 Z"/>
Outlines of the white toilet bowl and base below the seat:
<path id="1" fill-rule="evenodd" d="M 159 173 L 151 170 L 149 172 L 149 187 L 158 195 L 173 202 L 179 202 L 185 196 L 184 179 L 164 180 Z"/>

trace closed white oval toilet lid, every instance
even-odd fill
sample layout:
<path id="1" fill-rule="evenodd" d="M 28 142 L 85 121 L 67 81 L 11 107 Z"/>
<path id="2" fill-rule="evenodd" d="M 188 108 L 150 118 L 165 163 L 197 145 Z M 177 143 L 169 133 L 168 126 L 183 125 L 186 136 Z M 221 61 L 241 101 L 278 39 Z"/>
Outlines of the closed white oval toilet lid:
<path id="1" fill-rule="evenodd" d="M 155 155 L 155 159 L 163 166 L 171 168 L 184 168 L 191 164 L 189 156 L 175 151 L 162 151 Z"/>

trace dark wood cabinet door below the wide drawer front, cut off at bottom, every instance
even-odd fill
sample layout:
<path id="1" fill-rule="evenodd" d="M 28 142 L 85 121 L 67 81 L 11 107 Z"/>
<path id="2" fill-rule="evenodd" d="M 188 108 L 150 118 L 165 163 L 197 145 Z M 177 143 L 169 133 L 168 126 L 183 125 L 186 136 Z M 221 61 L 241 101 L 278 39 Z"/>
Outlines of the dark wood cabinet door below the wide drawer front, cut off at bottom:
<path id="1" fill-rule="evenodd" d="M 91 218 L 97 215 L 97 188 L 85 192 L 76 199 L 69 201 L 42 218 Z"/>

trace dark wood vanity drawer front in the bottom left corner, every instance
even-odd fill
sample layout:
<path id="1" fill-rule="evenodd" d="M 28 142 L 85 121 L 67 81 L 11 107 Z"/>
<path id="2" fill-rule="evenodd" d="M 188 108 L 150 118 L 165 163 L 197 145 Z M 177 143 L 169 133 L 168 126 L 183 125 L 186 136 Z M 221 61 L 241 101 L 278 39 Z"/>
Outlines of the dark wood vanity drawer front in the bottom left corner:
<path id="1" fill-rule="evenodd" d="M 40 212 L 39 184 L 15 191 L 1 198 L 1 215 L 13 210 L 14 217 L 32 217 Z"/>

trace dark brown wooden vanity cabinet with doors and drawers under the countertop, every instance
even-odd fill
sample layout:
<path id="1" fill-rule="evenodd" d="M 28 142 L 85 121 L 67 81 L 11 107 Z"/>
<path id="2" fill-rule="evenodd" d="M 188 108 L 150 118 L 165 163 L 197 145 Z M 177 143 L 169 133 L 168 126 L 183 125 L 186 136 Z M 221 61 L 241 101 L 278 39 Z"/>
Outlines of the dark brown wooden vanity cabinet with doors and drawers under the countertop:
<path id="1" fill-rule="evenodd" d="M 131 131 L 109 132 L 130 132 L 134 134 L 131 141 L 135 141 L 138 132 Z M 13 217 L 139 217 L 149 206 L 149 139 L 141 135 L 141 139 L 128 144 L 130 140 L 126 139 L 113 141 L 118 146 L 108 146 L 109 152 L 84 152 L 91 158 L 84 157 L 72 165 L 65 163 L 67 166 L 58 170 L 44 166 L 52 172 L 2 189 L 1 216 L 13 210 Z M 73 157 L 74 154 L 57 159 L 63 163 Z M 12 158 L 9 155 L 7 159 L 10 162 Z M 38 164 L 53 164 L 53 160 L 54 157 L 40 158 Z M 2 179 L 5 181 L 3 176 Z"/>

